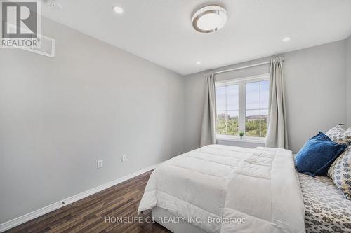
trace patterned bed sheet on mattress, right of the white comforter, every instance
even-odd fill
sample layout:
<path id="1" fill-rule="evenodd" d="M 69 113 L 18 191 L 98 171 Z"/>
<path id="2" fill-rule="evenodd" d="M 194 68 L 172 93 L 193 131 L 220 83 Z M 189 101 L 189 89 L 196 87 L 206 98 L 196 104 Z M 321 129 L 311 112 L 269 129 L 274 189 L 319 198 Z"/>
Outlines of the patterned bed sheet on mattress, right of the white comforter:
<path id="1" fill-rule="evenodd" d="M 298 174 L 307 233 L 351 232 L 351 201 L 327 176 Z"/>

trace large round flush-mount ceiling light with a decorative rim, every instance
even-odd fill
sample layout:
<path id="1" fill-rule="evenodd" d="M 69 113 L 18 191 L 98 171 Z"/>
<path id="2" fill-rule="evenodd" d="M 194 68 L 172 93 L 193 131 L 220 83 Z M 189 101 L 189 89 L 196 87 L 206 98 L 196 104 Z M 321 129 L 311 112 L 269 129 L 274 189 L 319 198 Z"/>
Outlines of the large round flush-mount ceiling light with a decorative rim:
<path id="1" fill-rule="evenodd" d="M 216 5 L 204 6 L 192 15 L 192 27 L 202 33 L 218 31 L 226 22 L 227 11 Z"/>

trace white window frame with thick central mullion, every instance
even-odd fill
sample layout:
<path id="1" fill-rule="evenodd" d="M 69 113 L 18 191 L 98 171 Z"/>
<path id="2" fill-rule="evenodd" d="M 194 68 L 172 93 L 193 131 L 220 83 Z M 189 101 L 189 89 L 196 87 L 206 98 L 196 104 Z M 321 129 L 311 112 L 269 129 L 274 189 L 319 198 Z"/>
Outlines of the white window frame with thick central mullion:
<path id="1" fill-rule="evenodd" d="M 228 85 L 239 85 L 239 132 L 246 132 L 245 121 L 246 121 L 246 83 L 260 82 L 264 80 L 270 80 L 270 73 L 264 73 L 257 76 L 248 76 L 243 78 L 234 78 L 230 80 L 218 80 L 215 82 L 216 87 L 224 87 Z M 217 109 L 216 109 L 217 115 Z M 217 126 L 216 126 L 217 127 Z M 258 142 L 263 143 L 266 137 L 259 136 L 246 136 L 240 139 L 240 136 L 216 134 L 216 139 L 219 140 L 230 140 L 230 141 L 246 141 L 246 142 Z"/>

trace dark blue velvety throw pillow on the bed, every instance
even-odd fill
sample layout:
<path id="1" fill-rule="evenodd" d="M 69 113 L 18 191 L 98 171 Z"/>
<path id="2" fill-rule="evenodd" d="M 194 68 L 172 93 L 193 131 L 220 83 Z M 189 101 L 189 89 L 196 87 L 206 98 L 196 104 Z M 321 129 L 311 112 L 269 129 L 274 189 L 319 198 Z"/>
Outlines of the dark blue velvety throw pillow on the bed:
<path id="1" fill-rule="evenodd" d="M 335 143 L 319 132 L 308 140 L 296 155 L 296 170 L 310 176 L 325 175 L 331 163 L 343 153 L 345 148 L 347 148 L 346 144 Z"/>

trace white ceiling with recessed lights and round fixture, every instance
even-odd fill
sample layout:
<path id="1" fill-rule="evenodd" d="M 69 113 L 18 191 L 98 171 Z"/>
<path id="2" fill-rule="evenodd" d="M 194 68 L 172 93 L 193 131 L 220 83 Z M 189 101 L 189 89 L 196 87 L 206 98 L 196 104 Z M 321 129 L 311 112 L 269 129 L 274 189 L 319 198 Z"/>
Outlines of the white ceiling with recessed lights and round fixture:
<path id="1" fill-rule="evenodd" d="M 338 41 L 351 34 L 351 0 L 58 0 L 44 15 L 180 74 Z M 224 6 L 225 27 L 192 28 L 194 10 Z M 112 6 L 124 8 L 117 15 Z M 291 41 L 282 42 L 289 36 Z M 201 61 L 201 64 L 196 64 Z"/>

